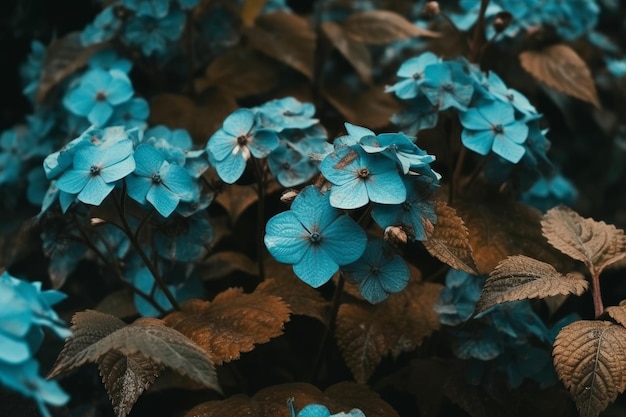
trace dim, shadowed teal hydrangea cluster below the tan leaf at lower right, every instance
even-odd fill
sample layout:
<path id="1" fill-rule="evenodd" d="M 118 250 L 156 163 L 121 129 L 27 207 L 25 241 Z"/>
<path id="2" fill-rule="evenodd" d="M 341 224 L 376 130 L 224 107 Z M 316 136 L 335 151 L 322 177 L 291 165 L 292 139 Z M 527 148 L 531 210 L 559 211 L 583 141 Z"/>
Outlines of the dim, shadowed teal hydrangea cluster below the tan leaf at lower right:
<path id="1" fill-rule="evenodd" d="M 454 354 L 468 361 L 469 382 L 478 385 L 497 372 L 514 388 L 525 379 L 541 386 L 555 383 L 552 344 L 577 315 L 568 315 L 549 328 L 530 302 L 522 300 L 496 305 L 472 318 L 484 281 L 484 277 L 452 269 L 434 306 L 440 323 L 450 326 Z"/>

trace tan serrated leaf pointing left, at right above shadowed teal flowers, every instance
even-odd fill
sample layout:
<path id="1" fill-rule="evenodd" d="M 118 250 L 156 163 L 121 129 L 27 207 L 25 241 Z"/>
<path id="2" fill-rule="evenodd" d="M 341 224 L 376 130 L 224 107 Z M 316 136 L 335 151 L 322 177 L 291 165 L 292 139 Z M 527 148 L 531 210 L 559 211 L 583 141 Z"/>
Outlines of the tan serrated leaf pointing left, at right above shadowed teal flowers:
<path id="1" fill-rule="evenodd" d="M 509 256 L 489 274 L 476 304 L 476 312 L 483 312 L 507 301 L 559 294 L 581 295 L 588 285 L 585 277 L 579 273 L 563 275 L 545 262 L 523 255 Z"/>

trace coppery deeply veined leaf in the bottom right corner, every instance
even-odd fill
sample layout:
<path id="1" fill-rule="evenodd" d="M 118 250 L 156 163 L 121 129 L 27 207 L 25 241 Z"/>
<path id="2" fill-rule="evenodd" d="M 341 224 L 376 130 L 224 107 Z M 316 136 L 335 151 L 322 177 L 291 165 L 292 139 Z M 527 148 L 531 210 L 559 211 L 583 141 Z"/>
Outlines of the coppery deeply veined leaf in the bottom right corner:
<path id="1" fill-rule="evenodd" d="M 554 366 L 581 417 L 596 417 L 626 388 L 626 328 L 576 321 L 554 341 Z"/>

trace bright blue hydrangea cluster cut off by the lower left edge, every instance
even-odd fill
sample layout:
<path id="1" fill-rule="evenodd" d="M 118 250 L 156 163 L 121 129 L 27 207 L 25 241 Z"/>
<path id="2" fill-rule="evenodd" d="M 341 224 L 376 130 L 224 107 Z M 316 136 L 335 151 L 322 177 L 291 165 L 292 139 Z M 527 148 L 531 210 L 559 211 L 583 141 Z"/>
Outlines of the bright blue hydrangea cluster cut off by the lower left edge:
<path id="1" fill-rule="evenodd" d="M 64 298 L 58 291 L 41 291 L 40 282 L 0 274 L 0 384 L 32 398 L 45 417 L 50 416 L 46 404 L 60 406 L 69 400 L 55 381 L 39 375 L 35 358 L 44 339 L 43 328 L 61 338 L 71 335 L 52 309 Z"/>

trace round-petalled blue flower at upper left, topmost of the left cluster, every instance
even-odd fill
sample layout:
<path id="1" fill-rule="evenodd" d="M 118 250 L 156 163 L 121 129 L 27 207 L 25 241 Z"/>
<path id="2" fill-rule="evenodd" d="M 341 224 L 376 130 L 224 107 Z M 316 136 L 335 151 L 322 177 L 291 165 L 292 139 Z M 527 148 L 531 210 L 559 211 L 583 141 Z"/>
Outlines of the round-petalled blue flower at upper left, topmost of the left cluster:
<path id="1" fill-rule="evenodd" d="M 114 106 L 130 100 L 134 90 L 126 73 L 119 70 L 91 69 L 78 87 L 63 98 L 63 105 L 92 124 L 104 126 L 113 114 Z"/>

